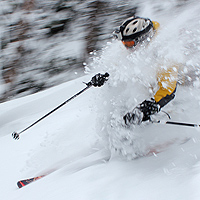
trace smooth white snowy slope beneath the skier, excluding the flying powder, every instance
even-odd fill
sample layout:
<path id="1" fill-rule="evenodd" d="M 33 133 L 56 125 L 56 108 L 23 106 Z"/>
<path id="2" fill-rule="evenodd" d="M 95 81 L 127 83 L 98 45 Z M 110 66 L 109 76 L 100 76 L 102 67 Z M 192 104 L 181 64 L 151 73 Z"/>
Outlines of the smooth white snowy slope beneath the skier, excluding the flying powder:
<path id="1" fill-rule="evenodd" d="M 156 131 L 157 137 L 173 131 L 193 139 L 157 157 L 133 161 L 114 157 L 106 162 L 109 152 L 98 142 L 91 101 L 99 88 L 77 97 L 23 133 L 19 141 L 12 139 L 13 130 L 24 128 L 81 90 L 82 80 L 88 81 L 89 76 L 1 104 L 1 199 L 199 199 L 200 132 L 150 125 L 150 134 Z M 192 121 L 198 113 L 192 109 L 189 115 Z M 184 119 L 183 115 L 179 118 Z M 17 180 L 54 169 L 47 177 L 17 189 Z"/>

